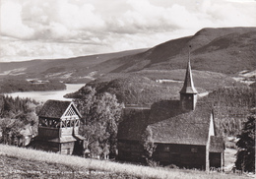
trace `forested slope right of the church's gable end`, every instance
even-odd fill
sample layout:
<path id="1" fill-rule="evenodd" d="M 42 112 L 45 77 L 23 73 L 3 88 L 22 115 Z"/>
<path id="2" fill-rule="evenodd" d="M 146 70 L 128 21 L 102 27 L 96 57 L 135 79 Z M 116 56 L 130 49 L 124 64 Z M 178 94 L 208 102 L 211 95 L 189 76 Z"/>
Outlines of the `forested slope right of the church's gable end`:
<path id="1" fill-rule="evenodd" d="M 211 103 L 215 112 L 217 133 L 224 136 L 236 136 L 242 130 L 247 116 L 255 111 L 256 89 L 229 87 L 217 89 L 204 97 Z"/>

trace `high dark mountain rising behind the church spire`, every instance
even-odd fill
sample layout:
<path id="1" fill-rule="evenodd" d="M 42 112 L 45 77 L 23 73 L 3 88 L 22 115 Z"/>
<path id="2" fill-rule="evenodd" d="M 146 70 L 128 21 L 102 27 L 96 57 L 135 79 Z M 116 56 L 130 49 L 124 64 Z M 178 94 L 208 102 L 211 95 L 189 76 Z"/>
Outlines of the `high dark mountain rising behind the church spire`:
<path id="1" fill-rule="evenodd" d="M 98 66 L 106 66 L 115 73 L 183 69 L 189 45 L 195 70 L 224 74 L 255 70 L 256 28 L 203 29 L 193 36 L 169 40 L 145 52 L 108 60 Z"/>

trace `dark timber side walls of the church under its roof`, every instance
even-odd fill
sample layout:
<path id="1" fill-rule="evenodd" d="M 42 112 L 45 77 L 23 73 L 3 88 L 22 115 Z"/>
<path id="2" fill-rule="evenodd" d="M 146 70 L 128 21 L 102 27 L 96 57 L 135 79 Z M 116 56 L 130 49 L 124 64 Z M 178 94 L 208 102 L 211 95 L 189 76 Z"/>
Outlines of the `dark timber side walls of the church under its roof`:
<path id="1" fill-rule="evenodd" d="M 130 162 L 146 162 L 143 146 L 136 141 L 118 141 L 118 159 Z M 166 166 L 205 169 L 206 147 L 195 145 L 157 144 L 153 159 Z"/>

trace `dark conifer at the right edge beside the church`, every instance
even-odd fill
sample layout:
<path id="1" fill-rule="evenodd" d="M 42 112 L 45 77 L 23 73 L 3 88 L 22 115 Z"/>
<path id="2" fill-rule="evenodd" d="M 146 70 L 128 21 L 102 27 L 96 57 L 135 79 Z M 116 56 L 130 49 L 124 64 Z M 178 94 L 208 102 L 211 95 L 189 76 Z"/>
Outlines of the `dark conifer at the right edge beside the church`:
<path id="1" fill-rule="evenodd" d="M 244 123 L 239 141 L 236 143 L 238 151 L 236 153 L 235 166 L 242 171 L 255 172 L 255 115 L 251 115 Z"/>

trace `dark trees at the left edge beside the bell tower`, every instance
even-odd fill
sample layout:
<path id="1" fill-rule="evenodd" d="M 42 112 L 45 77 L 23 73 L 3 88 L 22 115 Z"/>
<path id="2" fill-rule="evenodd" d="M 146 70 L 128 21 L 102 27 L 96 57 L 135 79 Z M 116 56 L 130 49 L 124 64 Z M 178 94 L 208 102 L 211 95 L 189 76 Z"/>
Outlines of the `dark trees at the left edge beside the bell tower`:
<path id="1" fill-rule="evenodd" d="M 37 132 L 37 116 L 40 104 L 30 98 L 13 98 L 0 95 L 0 143 L 23 146 L 26 136 Z M 30 129 L 30 134 L 28 131 Z"/>

